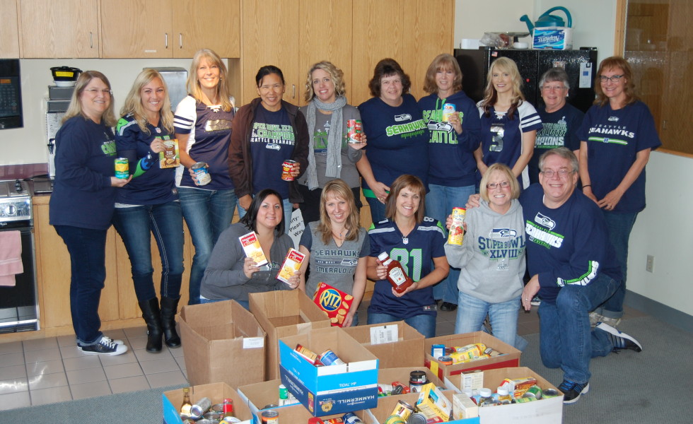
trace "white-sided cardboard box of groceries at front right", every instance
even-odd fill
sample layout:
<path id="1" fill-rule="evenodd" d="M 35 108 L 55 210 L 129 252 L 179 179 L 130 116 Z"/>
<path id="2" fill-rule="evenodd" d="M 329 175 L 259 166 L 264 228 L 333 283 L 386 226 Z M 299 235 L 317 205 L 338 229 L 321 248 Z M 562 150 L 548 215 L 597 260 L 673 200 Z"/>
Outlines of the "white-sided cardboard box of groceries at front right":
<path id="1" fill-rule="evenodd" d="M 547 382 L 544 377 L 530 370 L 528 367 L 500 368 L 484 371 L 484 387 L 495 391 L 506 378 L 535 377 L 537 385 L 542 389 L 557 389 Z M 446 387 L 460 391 L 461 375 L 448 377 Z M 451 384 L 450 384 L 451 383 Z M 558 390 L 558 389 L 557 389 Z M 482 423 L 512 423 L 512 424 L 555 424 L 563 420 L 563 395 L 549 399 L 528 402 L 526 404 L 511 404 L 479 408 L 479 418 Z"/>

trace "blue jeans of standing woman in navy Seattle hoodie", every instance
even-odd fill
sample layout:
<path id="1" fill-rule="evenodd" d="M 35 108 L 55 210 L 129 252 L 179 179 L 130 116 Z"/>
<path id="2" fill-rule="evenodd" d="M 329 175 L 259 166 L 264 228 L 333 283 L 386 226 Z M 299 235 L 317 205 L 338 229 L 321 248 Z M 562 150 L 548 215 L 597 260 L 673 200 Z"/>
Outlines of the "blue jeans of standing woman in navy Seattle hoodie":
<path id="1" fill-rule="evenodd" d="M 464 208 L 470 195 L 474 194 L 474 186 L 447 187 L 438 184 L 429 184 L 429 192 L 426 194 L 426 216 L 437 219 L 445 225 L 445 220 L 453 208 Z M 450 273 L 443 281 L 433 285 L 433 298 L 442 299 L 443 302 L 458 303 L 458 279 L 460 269 L 450 266 Z"/>

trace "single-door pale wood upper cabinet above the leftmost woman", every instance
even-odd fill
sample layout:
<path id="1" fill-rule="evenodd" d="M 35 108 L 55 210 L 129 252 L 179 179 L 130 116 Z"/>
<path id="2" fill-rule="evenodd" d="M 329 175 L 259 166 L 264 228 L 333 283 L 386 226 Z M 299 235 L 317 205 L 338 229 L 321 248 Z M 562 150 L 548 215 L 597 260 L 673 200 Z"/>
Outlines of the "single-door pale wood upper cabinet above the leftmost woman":
<path id="1" fill-rule="evenodd" d="M 22 56 L 98 57 L 98 0 L 21 0 Z"/>

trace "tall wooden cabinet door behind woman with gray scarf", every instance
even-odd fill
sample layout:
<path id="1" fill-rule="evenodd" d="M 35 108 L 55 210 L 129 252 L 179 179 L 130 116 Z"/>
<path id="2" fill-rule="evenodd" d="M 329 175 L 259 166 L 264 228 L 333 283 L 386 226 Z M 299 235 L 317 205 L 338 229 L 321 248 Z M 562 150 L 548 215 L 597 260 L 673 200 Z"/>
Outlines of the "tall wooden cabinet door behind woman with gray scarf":
<path id="1" fill-rule="evenodd" d="M 299 34 L 297 105 L 305 105 L 305 83 L 308 69 L 318 61 L 331 61 L 344 71 L 347 100 L 351 101 L 351 0 L 301 0 L 301 31 Z"/>

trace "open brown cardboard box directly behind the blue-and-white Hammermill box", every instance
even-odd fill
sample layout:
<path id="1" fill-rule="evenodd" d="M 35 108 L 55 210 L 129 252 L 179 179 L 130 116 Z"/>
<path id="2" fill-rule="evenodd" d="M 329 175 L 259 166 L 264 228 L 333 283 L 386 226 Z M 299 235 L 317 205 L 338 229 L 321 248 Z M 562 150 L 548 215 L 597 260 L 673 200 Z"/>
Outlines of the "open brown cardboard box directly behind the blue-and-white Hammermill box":
<path id="1" fill-rule="evenodd" d="M 250 312 L 267 332 L 264 379 L 278 379 L 279 338 L 328 327 L 330 319 L 301 290 L 250 293 L 249 298 Z"/>

